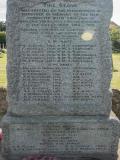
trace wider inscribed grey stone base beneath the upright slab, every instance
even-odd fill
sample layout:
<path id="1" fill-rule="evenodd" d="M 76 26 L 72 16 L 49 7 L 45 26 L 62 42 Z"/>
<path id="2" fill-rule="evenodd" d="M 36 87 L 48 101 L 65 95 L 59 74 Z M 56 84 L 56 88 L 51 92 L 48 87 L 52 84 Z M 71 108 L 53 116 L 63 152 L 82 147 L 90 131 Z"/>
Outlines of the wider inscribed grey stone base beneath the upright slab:
<path id="1" fill-rule="evenodd" d="M 61 160 L 117 160 L 119 122 L 95 116 L 14 117 L 3 119 L 3 155 L 54 155 Z"/>

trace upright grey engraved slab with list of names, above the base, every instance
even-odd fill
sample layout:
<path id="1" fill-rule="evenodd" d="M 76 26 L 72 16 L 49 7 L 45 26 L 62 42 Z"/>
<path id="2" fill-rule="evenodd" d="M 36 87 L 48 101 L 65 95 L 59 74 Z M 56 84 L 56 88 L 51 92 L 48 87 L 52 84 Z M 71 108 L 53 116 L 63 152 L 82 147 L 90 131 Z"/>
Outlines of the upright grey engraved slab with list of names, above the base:
<path id="1" fill-rule="evenodd" d="M 111 15 L 112 0 L 8 0 L 9 111 L 108 115 Z"/>

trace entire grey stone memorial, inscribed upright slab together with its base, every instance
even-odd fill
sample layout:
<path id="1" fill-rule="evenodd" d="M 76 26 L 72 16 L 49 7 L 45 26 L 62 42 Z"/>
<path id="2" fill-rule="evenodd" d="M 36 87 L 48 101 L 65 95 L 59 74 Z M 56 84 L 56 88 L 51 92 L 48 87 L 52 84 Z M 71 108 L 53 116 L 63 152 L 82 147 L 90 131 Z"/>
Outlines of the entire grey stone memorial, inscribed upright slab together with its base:
<path id="1" fill-rule="evenodd" d="M 112 0 L 8 0 L 7 160 L 116 160 L 111 15 Z"/>

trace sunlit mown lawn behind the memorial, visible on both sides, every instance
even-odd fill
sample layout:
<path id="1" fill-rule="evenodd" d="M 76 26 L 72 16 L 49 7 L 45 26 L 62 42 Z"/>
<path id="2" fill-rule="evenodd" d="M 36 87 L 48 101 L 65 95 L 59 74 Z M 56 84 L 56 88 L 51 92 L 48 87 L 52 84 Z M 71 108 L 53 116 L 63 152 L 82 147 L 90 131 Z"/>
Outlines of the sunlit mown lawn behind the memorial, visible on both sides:
<path id="1" fill-rule="evenodd" d="M 6 54 L 0 55 L 0 87 L 7 86 L 6 80 Z M 114 71 L 111 87 L 120 89 L 120 54 L 113 54 Z"/>

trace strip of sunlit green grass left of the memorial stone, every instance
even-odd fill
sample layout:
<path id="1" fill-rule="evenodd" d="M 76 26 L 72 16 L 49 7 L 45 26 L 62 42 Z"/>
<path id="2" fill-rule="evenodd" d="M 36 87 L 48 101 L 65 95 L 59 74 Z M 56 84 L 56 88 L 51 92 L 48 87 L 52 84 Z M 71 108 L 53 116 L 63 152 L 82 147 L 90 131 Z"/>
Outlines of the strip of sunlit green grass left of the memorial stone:
<path id="1" fill-rule="evenodd" d="M 7 86 L 6 63 L 7 63 L 7 55 L 0 54 L 0 87 L 3 88 L 6 88 Z"/>

